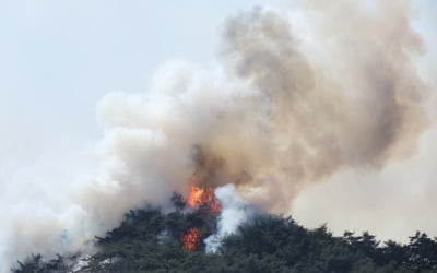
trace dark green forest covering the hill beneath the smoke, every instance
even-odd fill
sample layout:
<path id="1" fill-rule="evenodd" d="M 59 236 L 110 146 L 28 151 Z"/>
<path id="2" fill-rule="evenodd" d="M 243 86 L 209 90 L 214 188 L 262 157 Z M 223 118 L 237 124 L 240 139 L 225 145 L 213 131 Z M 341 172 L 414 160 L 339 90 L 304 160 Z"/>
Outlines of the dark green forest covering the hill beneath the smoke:
<path id="1" fill-rule="evenodd" d="M 96 237 L 98 251 L 58 254 L 45 260 L 33 254 L 12 272 L 437 272 L 437 238 L 424 233 L 409 244 L 380 242 L 375 236 L 345 232 L 333 236 L 326 226 L 307 229 L 292 217 L 260 214 L 227 236 L 214 253 L 203 239 L 217 228 L 217 216 L 200 206 L 163 213 L 147 205 L 125 215 L 120 225 Z M 187 249 L 181 238 L 199 228 L 199 242 Z M 35 251 L 38 252 L 38 251 Z"/>

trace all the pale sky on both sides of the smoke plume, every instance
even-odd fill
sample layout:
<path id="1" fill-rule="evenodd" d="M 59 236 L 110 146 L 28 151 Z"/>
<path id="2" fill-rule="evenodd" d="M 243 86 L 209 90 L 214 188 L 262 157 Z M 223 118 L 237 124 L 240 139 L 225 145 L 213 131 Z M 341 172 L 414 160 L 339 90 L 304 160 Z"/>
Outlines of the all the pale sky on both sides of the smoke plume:
<path id="1" fill-rule="evenodd" d="M 168 61 L 215 67 L 226 19 L 255 5 L 281 8 L 286 2 L 0 0 L 0 206 L 11 215 L 5 217 L 8 223 L 0 223 L 0 264 L 1 253 L 7 251 L 1 242 L 10 239 L 10 230 L 22 226 L 19 217 L 32 214 L 31 225 L 39 225 L 39 215 L 54 213 L 68 226 L 68 215 L 75 215 L 62 211 L 74 210 L 63 198 L 88 182 L 96 168 L 96 143 L 105 142 L 107 129 L 97 120 L 96 106 L 106 94 L 147 94 L 156 71 Z M 421 10 L 413 26 L 427 51 L 417 60 L 417 69 L 424 79 L 434 81 L 428 84 L 437 86 L 437 1 L 413 3 Z M 299 14 L 295 15 L 298 19 Z M 296 27 L 305 36 L 305 26 Z M 308 44 L 311 37 L 304 38 Z M 437 173 L 433 158 L 437 150 L 429 143 L 437 136 L 436 102 L 432 93 L 426 104 L 433 126 L 418 140 L 413 158 L 365 175 L 342 170 L 323 183 L 308 186 L 293 204 L 298 219 L 310 226 L 326 221 L 335 230 L 343 230 L 345 224 L 367 226 L 371 219 L 383 235 L 400 227 L 404 227 L 400 236 L 411 234 L 404 215 L 414 215 L 414 210 L 422 207 L 424 215 L 434 211 Z M 411 171 L 405 171 L 408 168 Z M 361 182 L 349 183 L 351 180 Z M 395 199 L 392 207 L 382 207 L 386 192 Z M 399 211 L 389 225 L 378 227 L 404 198 L 404 203 L 413 203 L 411 211 Z M 423 201 L 414 203 L 417 199 Z M 307 213 L 320 211 L 326 213 Z M 345 223 L 338 211 L 363 217 Z M 387 214 L 378 218 L 375 211 Z M 418 221 L 417 228 L 436 226 L 432 217 Z M 23 245 L 27 248 L 34 244 L 29 241 Z M 37 248 L 38 241 L 32 246 Z"/>

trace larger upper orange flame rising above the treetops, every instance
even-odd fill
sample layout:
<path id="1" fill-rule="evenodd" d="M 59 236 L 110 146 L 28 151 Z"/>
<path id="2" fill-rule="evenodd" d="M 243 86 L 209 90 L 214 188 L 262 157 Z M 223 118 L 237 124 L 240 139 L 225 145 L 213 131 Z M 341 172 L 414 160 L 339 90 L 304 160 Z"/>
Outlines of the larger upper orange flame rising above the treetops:
<path id="1" fill-rule="evenodd" d="M 212 187 L 201 188 L 193 182 L 190 185 L 190 194 L 188 195 L 187 203 L 191 207 L 205 205 L 212 213 L 218 213 L 222 209 Z"/>

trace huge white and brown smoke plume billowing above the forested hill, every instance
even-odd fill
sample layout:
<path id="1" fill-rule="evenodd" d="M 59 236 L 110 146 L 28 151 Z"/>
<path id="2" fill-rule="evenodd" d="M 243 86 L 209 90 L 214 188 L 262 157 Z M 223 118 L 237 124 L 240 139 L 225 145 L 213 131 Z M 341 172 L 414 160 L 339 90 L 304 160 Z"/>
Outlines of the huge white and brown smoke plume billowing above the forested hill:
<path id="1" fill-rule="evenodd" d="M 434 112 L 425 107 L 434 102 L 433 86 L 417 68 L 426 47 L 412 26 L 413 15 L 408 1 L 341 0 L 297 2 L 288 11 L 255 8 L 228 20 L 221 66 L 172 61 L 145 94 L 110 93 L 98 103 L 105 130 L 94 151 L 99 166 L 66 194 L 68 210 L 52 213 L 68 222 L 46 215 L 31 216 L 37 225 L 15 222 L 4 259 L 83 246 L 114 227 L 128 209 L 145 201 L 165 206 L 172 192 L 186 194 L 193 174 L 197 183 L 234 183 L 245 199 L 269 211 L 296 212 L 310 224 L 332 214 L 334 224 L 345 225 L 369 203 L 383 204 L 373 200 L 383 189 L 389 207 L 383 215 L 380 207 L 371 213 L 379 223 L 390 214 L 401 218 L 395 204 L 403 193 L 390 195 L 400 191 L 395 183 L 387 188 L 366 178 L 383 180 L 393 164 L 411 162 L 424 142 L 418 142 L 422 133 L 434 128 Z M 427 143 L 433 140 L 422 145 Z M 416 178 L 434 181 L 436 176 Z M 359 195 L 361 185 L 367 185 L 365 201 L 335 205 L 344 194 Z M 323 187 L 327 197 L 317 191 Z M 336 211 L 308 201 L 309 189 Z M 224 233 L 234 230 L 225 228 L 226 217 L 221 221 Z M 436 234 L 435 221 L 421 223 L 409 228 Z M 362 224 L 354 227 L 376 227 Z"/>

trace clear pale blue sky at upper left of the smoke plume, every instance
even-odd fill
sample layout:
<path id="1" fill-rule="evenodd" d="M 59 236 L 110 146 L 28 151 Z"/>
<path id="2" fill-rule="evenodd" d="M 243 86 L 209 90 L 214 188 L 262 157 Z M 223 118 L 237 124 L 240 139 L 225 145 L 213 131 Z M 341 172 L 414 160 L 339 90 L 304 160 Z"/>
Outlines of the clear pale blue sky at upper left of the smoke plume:
<path id="1" fill-rule="evenodd" d="M 223 21 L 261 2 L 0 1 L 0 164 L 98 139 L 104 94 L 145 92 L 170 59 L 210 62 Z"/>

